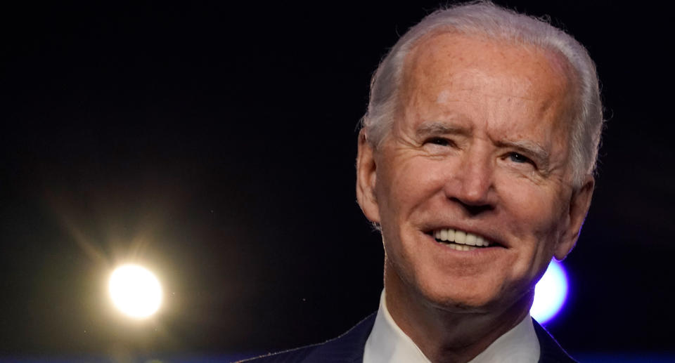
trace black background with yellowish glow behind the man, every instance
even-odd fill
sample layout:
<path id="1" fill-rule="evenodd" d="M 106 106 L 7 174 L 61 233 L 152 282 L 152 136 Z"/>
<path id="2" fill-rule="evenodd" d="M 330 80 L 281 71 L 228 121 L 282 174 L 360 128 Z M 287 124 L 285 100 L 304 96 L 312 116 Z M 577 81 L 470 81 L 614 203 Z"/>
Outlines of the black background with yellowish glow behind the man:
<path id="1" fill-rule="evenodd" d="M 673 350 L 669 9 L 499 3 L 589 48 L 610 119 L 548 328 L 572 352 Z M 437 6 L 4 5 L 0 357 L 267 352 L 375 311 L 355 126 L 386 49 Z M 144 322 L 105 291 L 129 261 L 166 293 Z"/>

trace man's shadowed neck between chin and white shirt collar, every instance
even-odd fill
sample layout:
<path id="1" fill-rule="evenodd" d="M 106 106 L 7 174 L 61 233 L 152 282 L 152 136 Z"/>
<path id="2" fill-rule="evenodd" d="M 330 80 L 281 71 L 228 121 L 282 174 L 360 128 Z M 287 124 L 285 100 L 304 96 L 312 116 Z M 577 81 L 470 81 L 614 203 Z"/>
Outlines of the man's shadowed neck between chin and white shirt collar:
<path id="1" fill-rule="evenodd" d="M 385 269 L 385 299 L 394 322 L 433 363 L 469 362 L 527 315 L 534 290 L 497 312 L 465 312 L 430 303 Z"/>

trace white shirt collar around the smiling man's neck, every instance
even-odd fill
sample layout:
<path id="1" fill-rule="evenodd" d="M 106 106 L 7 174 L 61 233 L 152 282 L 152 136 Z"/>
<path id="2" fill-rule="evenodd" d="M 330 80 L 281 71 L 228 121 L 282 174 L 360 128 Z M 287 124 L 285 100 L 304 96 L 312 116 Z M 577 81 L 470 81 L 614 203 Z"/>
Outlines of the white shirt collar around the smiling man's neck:
<path id="1" fill-rule="evenodd" d="M 492 342 L 469 363 L 536 363 L 539 361 L 539 340 L 532 318 L 527 316 L 513 329 Z M 366 341 L 364 363 L 430 363 L 415 342 L 394 322 L 387 310 L 385 291 L 380 296 L 380 309 L 375 325 Z"/>

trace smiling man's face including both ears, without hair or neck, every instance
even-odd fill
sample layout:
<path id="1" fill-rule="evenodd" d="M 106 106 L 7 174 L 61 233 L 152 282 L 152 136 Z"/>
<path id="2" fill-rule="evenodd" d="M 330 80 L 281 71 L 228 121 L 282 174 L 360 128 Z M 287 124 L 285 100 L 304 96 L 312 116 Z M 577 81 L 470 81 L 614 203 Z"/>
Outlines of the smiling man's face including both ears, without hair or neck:
<path id="1" fill-rule="evenodd" d="M 506 309 L 572 249 L 593 182 L 570 186 L 564 67 L 535 48 L 456 34 L 411 51 L 392 131 L 378 150 L 359 144 L 357 194 L 382 227 L 387 291 Z M 452 235 L 464 244 L 439 242 Z"/>

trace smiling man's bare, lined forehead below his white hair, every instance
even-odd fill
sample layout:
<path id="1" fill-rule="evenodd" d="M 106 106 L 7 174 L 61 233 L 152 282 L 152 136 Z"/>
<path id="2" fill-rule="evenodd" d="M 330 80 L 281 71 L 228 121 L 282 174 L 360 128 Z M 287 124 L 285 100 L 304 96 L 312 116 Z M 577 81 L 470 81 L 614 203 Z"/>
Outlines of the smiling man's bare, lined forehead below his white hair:
<path id="1" fill-rule="evenodd" d="M 481 36 L 430 34 L 405 59 L 399 105 L 489 100 L 518 105 L 491 103 L 499 110 L 511 107 L 516 113 L 539 113 L 537 117 L 555 111 L 555 118 L 567 121 L 572 108 L 568 74 L 567 61 L 552 51 Z"/>

